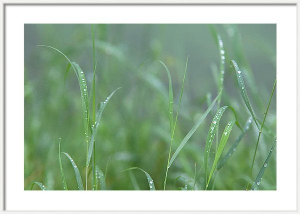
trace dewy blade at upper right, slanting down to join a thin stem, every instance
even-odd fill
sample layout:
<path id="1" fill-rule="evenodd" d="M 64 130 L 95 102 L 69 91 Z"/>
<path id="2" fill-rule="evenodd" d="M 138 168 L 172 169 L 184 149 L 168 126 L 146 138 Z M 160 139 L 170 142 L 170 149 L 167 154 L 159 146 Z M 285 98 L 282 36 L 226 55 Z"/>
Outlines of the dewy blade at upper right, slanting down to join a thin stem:
<path id="1" fill-rule="evenodd" d="M 251 116 L 252 116 L 252 118 L 253 118 L 253 120 L 254 120 L 257 128 L 258 128 L 258 130 L 260 130 L 260 127 L 259 127 L 258 122 L 256 120 L 256 117 L 254 115 L 254 112 L 253 112 L 253 110 L 251 108 L 251 105 L 250 105 L 250 101 L 249 101 L 249 98 L 248 98 L 248 94 L 246 92 L 246 86 L 244 84 L 241 71 L 239 70 L 238 65 L 236 64 L 236 62 L 234 60 L 231 60 L 231 63 L 233 65 L 234 69 L 235 69 L 236 79 L 237 79 L 238 88 L 239 88 L 241 97 L 242 97 L 245 105 L 247 106 L 247 108 L 248 108 L 248 110 L 249 110 L 249 112 L 250 112 L 250 114 L 251 114 Z"/>

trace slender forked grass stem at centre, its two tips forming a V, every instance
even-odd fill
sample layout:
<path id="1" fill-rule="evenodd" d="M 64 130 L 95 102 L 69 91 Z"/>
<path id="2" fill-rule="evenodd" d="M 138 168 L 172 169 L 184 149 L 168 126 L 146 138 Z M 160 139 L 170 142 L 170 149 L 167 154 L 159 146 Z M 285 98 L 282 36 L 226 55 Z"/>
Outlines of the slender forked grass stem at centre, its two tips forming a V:
<path id="1" fill-rule="evenodd" d="M 187 62 L 188 62 L 188 55 L 187 55 L 186 63 L 185 63 L 185 69 L 184 69 L 184 74 L 183 74 L 183 79 L 182 79 L 182 85 L 181 85 L 181 90 L 180 90 L 180 96 L 179 96 L 179 102 L 178 102 L 178 107 L 177 107 L 177 112 L 176 112 L 176 118 L 175 118 L 174 126 L 172 125 L 172 123 L 173 123 L 173 89 L 172 89 L 172 80 L 171 80 L 171 76 L 170 76 L 170 73 L 169 73 L 167 67 L 161 61 L 159 61 L 159 62 L 164 66 L 165 71 L 166 71 L 167 76 L 168 76 L 168 81 L 169 81 L 169 111 L 170 111 L 170 138 L 171 138 L 171 140 L 170 140 L 170 148 L 169 148 L 169 153 L 168 153 L 168 158 L 167 158 L 167 164 L 166 164 L 166 170 L 165 170 L 165 178 L 164 178 L 164 182 L 163 182 L 163 190 L 165 190 L 167 172 L 168 172 L 169 161 L 170 161 L 170 156 L 171 156 L 172 142 L 173 142 L 173 137 L 174 137 L 174 133 L 175 133 L 176 123 L 177 123 L 178 114 L 179 114 L 179 110 L 180 110 L 180 104 L 181 104 L 181 100 L 182 100 L 182 94 L 183 94 L 183 88 L 184 88 L 184 81 L 185 81 L 185 75 L 186 75 L 186 69 L 187 69 Z"/>

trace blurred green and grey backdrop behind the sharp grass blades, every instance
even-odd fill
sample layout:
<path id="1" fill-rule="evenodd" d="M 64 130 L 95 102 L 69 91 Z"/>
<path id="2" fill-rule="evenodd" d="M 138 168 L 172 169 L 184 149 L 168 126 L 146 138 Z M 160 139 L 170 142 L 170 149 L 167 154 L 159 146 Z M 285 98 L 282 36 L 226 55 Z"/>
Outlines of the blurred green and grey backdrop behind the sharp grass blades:
<path id="1" fill-rule="evenodd" d="M 262 120 L 276 75 L 276 25 L 226 24 L 215 27 L 225 49 L 221 106 L 232 106 L 243 126 L 249 112 L 239 93 L 234 69 L 229 66 L 229 61 L 235 60 L 244 71 L 252 108 L 257 118 Z M 173 152 L 207 109 L 206 98 L 211 96 L 214 99 L 217 94 L 215 75 L 219 63 L 216 43 L 205 24 L 95 24 L 94 32 L 98 60 L 96 103 L 105 100 L 117 87 L 122 87 L 107 104 L 96 136 L 96 163 L 103 171 L 110 158 L 106 188 L 133 190 L 134 176 L 139 188 L 147 190 L 147 180 L 141 171 L 134 170 L 131 175 L 128 171 L 121 172 L 137 166 L 147 171 L 154 179 L 156 189 L 161 190 L 169 149 L 168 82 L 163 67 L 155 60 L 164 62 L 171 73 L 175 110 L 189 55 Z M 80 90 L 73 71 L 70 70 L 65 77 L 67 61 L 57 52 L 36 45 L 53 46 L 71 61 L 77 62 L 85 73 L 90 90 L 91 26 L 24 25 L 24 189 L 37 180 L 48 190 L 61 190 L 59 137 L 62 139 L 61 151 L 72 156 L 85 182 Z M 145 60 L 150 61 L 140 67 Z M 194 166 L 196 163 L 198 171 L 203 163 L 205 140 L 213 115 L 206 117 L 169 168 L 166 189 L 183 185 L 182 179 L 174 183 L 178 176 L 186 178 L 188 189 L 192 187 Z M 233 115 L 228 111 L 220 122 L 220 135 L 229 119 L 233 119 Z M 275 94 L 265 124 L 252 177 L 258 173 L 276 135 Z M 224 153 L 239 134 L 240 130 L 234 126 Z M 257 134 L 252 124 L 235 153 L 218 171 L 214 189 L 245 189 Z M 213 156 L 211 153 L 209 168 Z M 62 164 L 68 188 L 76 189 L 73 169 L 64 156 Z M 201 171 L 195 189 L 203 189 L 203 176 L 204 171 Z M 276 189 L 275 152 L 265 170 L 260 189 Z"/>

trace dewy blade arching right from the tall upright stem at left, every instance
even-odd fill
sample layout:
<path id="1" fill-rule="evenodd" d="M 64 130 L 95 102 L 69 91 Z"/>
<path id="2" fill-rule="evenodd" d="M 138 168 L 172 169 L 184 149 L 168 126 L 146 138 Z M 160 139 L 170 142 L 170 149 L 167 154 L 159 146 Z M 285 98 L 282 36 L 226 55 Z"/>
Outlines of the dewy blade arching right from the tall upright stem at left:
<path id="1" fill-rule="evenodd" d="M 92 134 L 91 134 L 91 138 L 90 138 L 90 141 L 89 141 L 89 147 L 88 147 L 88 153 L 87 153 L 87 165 L 89 165 L 89 162 L 90 162 L 90 158 L 91 158 L 91 154 L 92 154 L 92 150 L 93 150 L 93 144 L 94 144 L 94 140 L 95 140 L 95 136 L 96 136 L 96 130 L 97 130 L 97 127 L 100 123 L 100 120 L 101 120 L 101 117 L 102 117 L 102 113 L 103 113 L 103 110 L 106 106 L 106 104 L 108 103 L 108 101 L 110 100 L 110 98 L 112 97 L 112 95 L 117 91 L 119 90 L 119 88 L 115 89 L 106 99 L 104 102 L 101 102 L 100 103 L 100 107 L 99 107 L 99 110 L 96 114 L 96 121 L 95 121 L 95 124 L 92 125 L 91 129 L 92 129 Z"/>

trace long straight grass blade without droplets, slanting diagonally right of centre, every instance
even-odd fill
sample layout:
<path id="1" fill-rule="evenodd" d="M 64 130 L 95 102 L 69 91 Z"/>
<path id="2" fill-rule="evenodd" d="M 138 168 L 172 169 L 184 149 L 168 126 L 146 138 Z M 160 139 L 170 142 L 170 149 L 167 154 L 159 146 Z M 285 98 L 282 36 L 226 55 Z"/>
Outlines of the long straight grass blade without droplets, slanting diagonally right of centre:
<path id="1" fill-rule="evenodd" d="M 210 110 L 212 109 L 213 105 L 215 104 L 217 98 L 220 96 L 221 92 L 216 96 L 216 98 L 214 98 L 214 100 L 212 101 L 212 103 L 210 104 L 210 106 L 207 108 L 207 110 L 205 111 L 205 113 L 201 116 L 201 118 L 197 121 L 197 123 L 189 130 L 189 132 L 185 135 L 185 137 L 183 138 L 183 140 L 181 141 L 181 143 L 179 144 L 179 146 L 177 147 L 176 151 L 174 152 L 174 154 L 172 155 L 170 162 L 168 164 L 168 167 L 171 166 L 172 162 L 174 161 L 174 159 L 176 158 L 176 156 L 178 155 L 178 153 L 181 151 L 181 149 L 183 148 L 183 146 L 185 145 L 185 143 L 189 140 L 189 138 L 193 135 L 193 133 L 197 130 L 197 128 L 201 125 L 201 123 L 203 122 L 203 120 L 205 119 L 205 117 L 207 116 L 207 114 L 210 112 Z"/>

